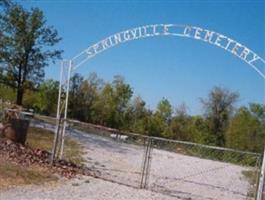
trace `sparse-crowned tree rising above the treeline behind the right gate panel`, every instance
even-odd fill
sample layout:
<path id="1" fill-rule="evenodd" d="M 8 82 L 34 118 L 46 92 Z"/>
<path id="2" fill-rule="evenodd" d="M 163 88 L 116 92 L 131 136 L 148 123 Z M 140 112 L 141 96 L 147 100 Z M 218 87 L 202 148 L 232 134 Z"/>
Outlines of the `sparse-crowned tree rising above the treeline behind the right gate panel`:
<path id="1" fill-rule="evenodd" d="M 218 146 L 225 145 L 225 130 L 234 110 L 234 103 L 238 97 L 239 94 L 237 92 L 214 87 L 207 99 L 201 99 L 212 136 L 212 144 Z"/>

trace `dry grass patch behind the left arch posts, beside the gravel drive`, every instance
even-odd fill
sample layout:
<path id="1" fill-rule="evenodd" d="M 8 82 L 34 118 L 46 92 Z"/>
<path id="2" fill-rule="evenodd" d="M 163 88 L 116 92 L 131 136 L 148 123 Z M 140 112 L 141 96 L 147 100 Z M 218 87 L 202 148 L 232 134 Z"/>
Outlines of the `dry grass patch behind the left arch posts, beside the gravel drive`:
<path id="1" fill-rule="evenodd" d="M 51 151 L 53 138 L 54 133 L 52 131 L 42 128 L 30 127 L 26 143 L 33 148 Z M 82 155 L 83 148 L 78 143 L 78 141 L 69 137 L 65 137 L 64 158 L 76 164 L 82 164 L 84 162 Z"/>

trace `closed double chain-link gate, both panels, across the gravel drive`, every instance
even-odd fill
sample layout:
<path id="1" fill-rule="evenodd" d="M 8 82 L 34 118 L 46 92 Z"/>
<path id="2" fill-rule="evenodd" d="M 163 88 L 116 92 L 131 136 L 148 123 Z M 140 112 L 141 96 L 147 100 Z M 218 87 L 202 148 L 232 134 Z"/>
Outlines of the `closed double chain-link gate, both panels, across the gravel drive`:
<path id="1" fill-rule="evenodd" d="M 176 199 L 256 197 L 261 154 L 122 133 L 74 120 L 66 130 L 83 146 L 86 166 L 104 180 Z"/>

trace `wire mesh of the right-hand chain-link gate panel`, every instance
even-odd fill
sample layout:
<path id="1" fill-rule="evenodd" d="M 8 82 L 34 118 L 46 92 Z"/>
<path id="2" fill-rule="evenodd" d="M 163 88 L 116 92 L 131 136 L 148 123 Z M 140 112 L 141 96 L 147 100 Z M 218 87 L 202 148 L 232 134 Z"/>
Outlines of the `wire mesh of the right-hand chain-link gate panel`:
<path id="1" fill-rule="evenodd" d="M 153 138 L 149 189 L 196 200 L 256 195 L 260 154 Z"/>

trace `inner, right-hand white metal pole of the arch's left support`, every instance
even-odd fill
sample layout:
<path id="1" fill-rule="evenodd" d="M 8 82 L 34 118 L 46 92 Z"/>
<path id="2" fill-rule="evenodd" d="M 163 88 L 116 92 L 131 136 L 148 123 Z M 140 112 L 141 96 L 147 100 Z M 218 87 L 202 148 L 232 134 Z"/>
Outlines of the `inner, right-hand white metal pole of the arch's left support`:
<path id="1" fill-rule="evenodd" d="M 65 99 L 65 105 L 64 105 L 64 121 L 63 121 L 63 131 L 62 131 L 61 146 L 60 146 L 61 147 L 60 148 L 60 159 L 63 158 L 63 151 L 64 151 L 64 136 L 65 136 L 65 129 L 67 125 L 66 120 L 67 120 L 67 111 L 68 111 L 71 71 L 72 71 L 72 60 L 69 61 L 68 75 L 67 75 L 67 89 L 66 89 L 66 99 Z"/>

